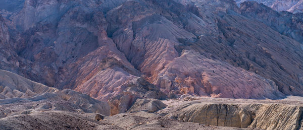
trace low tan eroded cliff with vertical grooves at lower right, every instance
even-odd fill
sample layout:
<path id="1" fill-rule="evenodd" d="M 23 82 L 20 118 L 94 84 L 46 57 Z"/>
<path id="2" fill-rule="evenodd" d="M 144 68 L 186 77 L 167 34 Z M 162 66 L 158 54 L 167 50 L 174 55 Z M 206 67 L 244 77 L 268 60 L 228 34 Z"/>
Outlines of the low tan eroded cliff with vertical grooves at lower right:
<path id="1" fill-rule="evenodd" d="M 209 100 L 209 99 L 206 99 Z M 216 100 L 220 101 L 220 99 Z M 204 103 L 191 101 L 176 107 L 167 117 L 215 126 L 261 129 L 302 129 L 301 104 L 261 103 Z M 206 101 L 207 102 L 207 101 Z"/>

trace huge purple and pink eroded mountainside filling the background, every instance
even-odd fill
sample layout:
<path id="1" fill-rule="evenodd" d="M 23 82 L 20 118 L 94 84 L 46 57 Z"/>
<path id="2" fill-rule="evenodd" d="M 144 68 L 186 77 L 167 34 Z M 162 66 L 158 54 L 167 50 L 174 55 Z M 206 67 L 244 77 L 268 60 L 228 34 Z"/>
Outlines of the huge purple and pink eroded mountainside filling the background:
<path id="1" fill-rule="evenodd" d="M 3 55 L 12 56 L 1 69 L 47 86 L 106 101 L 126 93 L 165 97 L 149 92 L 154 90 L 254 99 L 303 92 L 300 34 L 280 34 L 247 15 L 259 6 L 212 0 L 24 3 L 2 11 L 7 28 L 1 36 L 9 36 L 10 45 L 4 50 L 11 50 Z M 299 25 L 285 27 L 296 32 Z M 129 91 L 130 84 L 144 88 L 134 82 L 139 78 L 157 90 Z"/>

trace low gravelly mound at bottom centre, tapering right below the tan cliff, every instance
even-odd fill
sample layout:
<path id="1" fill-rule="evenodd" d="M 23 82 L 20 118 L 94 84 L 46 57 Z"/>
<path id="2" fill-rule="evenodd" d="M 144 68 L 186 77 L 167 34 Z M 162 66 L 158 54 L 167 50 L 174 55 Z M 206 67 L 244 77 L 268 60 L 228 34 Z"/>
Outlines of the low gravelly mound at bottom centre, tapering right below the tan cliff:
<path id="1" fill-rule="evenodd" d="M 104 121 L 123 129 L 236 129 L 234 127 L 209 126 L 199 123 L 176 121 L 144 111 L 117 114 L 106 117 Z M 104 129 L 107 127 L 98 126 L 97 128 Z"/>

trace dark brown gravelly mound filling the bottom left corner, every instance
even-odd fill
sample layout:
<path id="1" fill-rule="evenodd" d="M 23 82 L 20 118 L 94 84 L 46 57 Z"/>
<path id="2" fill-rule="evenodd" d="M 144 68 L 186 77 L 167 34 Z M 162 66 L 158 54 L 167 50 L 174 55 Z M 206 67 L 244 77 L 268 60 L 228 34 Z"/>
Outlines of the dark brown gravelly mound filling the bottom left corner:
<path id="1" fill-rule="evenodd" d="M 96 120 L 66 111 L 34 111 L 0 119 L 1 129 L 94 129 Z"/>

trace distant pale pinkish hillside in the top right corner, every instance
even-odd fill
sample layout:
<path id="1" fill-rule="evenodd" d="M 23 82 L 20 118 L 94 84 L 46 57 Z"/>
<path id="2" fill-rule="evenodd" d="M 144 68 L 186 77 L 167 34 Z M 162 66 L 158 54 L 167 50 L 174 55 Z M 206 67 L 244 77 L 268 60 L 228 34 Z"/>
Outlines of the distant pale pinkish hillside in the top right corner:
<path id="1" fill-rule="evenodd" d="M 241 4 L 247 0 L 235 0 L 237 4 Z M 291 13 L 302 13 L 303 12 L 303 1 L 302 0 L 248 0 L 262 3 L 274 10 L 281 12 L 287 11 Z"/>

